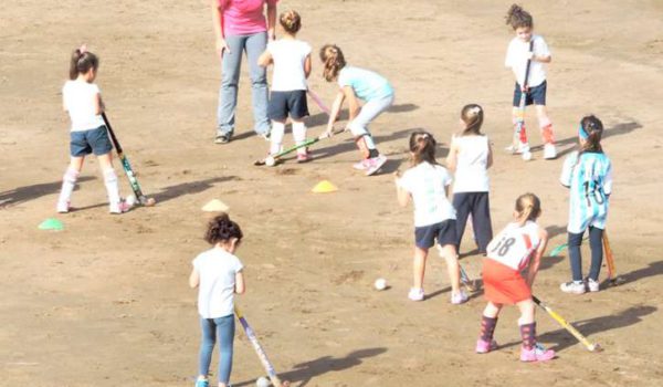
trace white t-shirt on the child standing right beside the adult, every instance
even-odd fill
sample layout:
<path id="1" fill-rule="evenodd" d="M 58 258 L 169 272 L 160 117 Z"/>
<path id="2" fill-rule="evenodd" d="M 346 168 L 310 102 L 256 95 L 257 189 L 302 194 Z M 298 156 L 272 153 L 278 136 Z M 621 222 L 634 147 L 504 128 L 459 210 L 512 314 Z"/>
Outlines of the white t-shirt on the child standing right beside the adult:
<path id="1" fill-rule="evenodd" d="M 280 39 L 267 43 L 274 60 L 272 91 L 290 92 L 306 90 L 304 61 L 311 55 L 311 45 L 301 40 Z"/>

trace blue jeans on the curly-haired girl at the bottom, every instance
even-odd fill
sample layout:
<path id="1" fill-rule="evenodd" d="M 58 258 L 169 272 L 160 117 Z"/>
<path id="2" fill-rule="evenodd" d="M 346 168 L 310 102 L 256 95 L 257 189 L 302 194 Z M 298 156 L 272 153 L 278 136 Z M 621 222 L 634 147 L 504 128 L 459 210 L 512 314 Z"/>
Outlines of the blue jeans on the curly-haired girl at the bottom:
<path id="1" fill-rule="evenodd" d="M 218 318 L 200 318 L 202 331 L 202 343 L 200 344 L 200 356 L 198 375 L 207 376 L 212 362 L 214 342 L 219 337 L 219 383 L 230 381 L 232 370 L 232 344 L 234 341 L 234 314 Z"/>

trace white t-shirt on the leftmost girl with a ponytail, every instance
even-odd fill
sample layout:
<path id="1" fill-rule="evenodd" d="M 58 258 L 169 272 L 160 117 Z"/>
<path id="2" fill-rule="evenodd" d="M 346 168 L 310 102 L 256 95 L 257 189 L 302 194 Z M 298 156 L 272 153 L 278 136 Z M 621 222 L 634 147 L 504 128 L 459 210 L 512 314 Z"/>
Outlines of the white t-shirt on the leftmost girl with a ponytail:
<path id="1" fill-rule="evenodd" d="M 96 129 L 104 118 L 96 114 L 95 98 L 99 87 L 85 81 L 66 81 L 62 87 L 62 101 L 72 119 L 72 132 Z"/>

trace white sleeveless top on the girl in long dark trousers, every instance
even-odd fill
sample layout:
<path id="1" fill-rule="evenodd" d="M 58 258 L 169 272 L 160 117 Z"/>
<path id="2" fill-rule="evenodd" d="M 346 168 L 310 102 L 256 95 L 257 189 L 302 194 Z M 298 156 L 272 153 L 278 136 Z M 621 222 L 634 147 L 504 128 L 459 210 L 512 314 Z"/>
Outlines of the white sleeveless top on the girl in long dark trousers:
<path id="1" fill-rule="evenodd" d="M 459 147 L 453 191 L 488 191 L 488 136 L 454 136 Z"/>

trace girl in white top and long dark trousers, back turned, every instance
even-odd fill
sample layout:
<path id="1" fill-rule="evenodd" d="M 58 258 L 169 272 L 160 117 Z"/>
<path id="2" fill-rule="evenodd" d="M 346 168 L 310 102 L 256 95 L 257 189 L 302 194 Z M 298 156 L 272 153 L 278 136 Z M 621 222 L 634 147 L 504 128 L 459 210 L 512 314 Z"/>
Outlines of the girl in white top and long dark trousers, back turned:
<path id="1" fill-rule="evenodd" d="M 481 133 L 484 112 L 476 104 L 465 105 L 461 111 L 462 132 L 451 137 L 446 166 L 454 171 L 453 207 L 456 210 L 456 249 L 465 232 L 467 217 L 478 244 L 485 254 L 493 239 L 491 205 L 488 202 L 488 168 L 493 165 L 493 149 L 488 137 Z"/>

